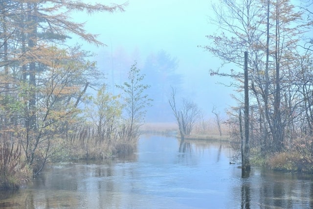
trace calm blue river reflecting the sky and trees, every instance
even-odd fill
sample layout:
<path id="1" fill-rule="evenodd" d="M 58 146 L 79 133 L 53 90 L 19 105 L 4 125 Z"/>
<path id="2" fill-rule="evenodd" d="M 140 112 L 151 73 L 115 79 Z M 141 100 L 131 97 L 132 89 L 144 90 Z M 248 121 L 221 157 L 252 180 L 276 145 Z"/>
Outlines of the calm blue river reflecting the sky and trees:
<path id="1" fill-rule="evenodd" d="M 0 208 L 236 209 L 313 208 L 313 176 L 229 164 L 228 143 L 142 136 L 137 152 L 105 162 L 56 163 Z"/>

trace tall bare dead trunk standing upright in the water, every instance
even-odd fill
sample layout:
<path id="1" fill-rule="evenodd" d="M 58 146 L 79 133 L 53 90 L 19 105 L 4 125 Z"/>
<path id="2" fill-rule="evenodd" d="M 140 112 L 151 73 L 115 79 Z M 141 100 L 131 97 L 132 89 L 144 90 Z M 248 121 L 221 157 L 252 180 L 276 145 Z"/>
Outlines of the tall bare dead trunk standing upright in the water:
<path id="1" fill-rule="evenodd" d="M 240 114 L 241 115 L 241 114 Z M 249 145 L 249 91 L 248 91 L 248 52 L 245 51 L 245 140 L 241 148 L 242 172 L 250 171 L 250 145 Z"/>

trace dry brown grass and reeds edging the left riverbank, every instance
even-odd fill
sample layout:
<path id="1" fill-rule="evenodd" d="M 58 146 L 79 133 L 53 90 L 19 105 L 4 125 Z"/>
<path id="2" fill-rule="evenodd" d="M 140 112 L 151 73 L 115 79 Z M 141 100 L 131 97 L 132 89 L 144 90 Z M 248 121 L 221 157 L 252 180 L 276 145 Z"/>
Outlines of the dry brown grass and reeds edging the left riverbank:
<path id="1" fill-rule="evenodd" d="M 36 161 L 26 163 L 24 152 L 18 143 L 0 143 L 0 190 L 19 189 L 31 182 L 32 178 L 45 169 L 48 163 L 70 161 L 103 161 L 115 157 L 123 157 L 136 152 L 137 138 L 106 139 L 98 141 L 94 138 L 54 139 L 50 155 L 37 153 Z M 43 163 L 44 162 L 44 163 Z M 38 171 L 38 167 L 40 167 Z M 38 171 L 38 172 L 37 172 Z M 37 174 L 36 174 L 37 173 Z"/>

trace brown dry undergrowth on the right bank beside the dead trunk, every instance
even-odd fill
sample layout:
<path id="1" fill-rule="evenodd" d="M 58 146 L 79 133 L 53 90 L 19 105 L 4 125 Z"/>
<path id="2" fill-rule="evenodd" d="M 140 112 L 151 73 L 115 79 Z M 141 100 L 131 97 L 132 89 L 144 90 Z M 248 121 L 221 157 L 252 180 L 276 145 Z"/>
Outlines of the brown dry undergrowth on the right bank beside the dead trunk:
<path id="1" fill-rule="evenodd" d="M 234 119 L 234 118 L 233 118 Z M 232 149 L 241 150 L 241 139 L 238 121 L 228 120 L 229 139 Z M 313 173 L 313 140 L 309 136 L 301 136 L 285 144 L 281 152 L 269 152 L 262 144 L 262 133 L 257 129 L 250 130 L 251 165 L 266 166 L 270 169 L 287 172 Z"/>

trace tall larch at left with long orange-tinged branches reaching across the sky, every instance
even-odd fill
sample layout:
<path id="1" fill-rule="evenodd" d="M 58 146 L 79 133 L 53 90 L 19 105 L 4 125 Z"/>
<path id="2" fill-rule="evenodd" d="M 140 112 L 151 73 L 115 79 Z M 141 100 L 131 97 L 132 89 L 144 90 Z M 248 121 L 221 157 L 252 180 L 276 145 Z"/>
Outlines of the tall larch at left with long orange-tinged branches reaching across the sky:
<path id="1" fill-rule="evenodd" d="M 96 39 L 96 35 L 89 34 L 84 29 L 84 23 L 75 23 L 70 20 L 70 13 L 74 11 L 86 11 L 88 14 L 95 12 L 113 12 L 116 10 L 123 10 L 123 5 L 113 5 L 112 7 L 103 4 L 88 4 L 81 1 L 29 1 L 23 4 L 23 10 L 26 18 L 27 31 L 27 48 L 29 52 L 26 53 L 26 60 L 28 63 L 27 77 L 31 87 L 36 87 L 36 74 L 40 71 L 41 66 L 38 59 L 32 56 L 33 51 L 40 51 L 45 48 L 46 43 L 49 42 L 63 42 L 68 37 L 68 34 L 75 34 L 96 46 L 103 46 L 101 42 Z M 38 52 L 37 52 L 38 53 Z M 37 61 L 37 62 L 36 62 Z M 36 69 L 37 68 L 37 69 Z M 86 84 L 87 85 L 87 84 Z M 35 93 L 29 101 L 30 109 L 34 109 Z M 36 129 L 36 117 L 32 114 L 28 126 Z"/>

